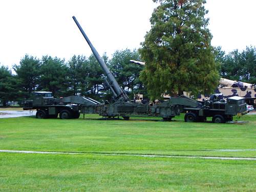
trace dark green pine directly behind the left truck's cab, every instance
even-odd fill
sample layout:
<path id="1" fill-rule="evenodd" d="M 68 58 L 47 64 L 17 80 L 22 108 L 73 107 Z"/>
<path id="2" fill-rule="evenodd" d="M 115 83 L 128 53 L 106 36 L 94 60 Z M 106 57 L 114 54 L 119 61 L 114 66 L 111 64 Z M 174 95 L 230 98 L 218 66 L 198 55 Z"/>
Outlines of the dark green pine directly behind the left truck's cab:
<path id="1" fill-rule="evenodd" d="M 40 83 L 38 90 L 51 91 L 53 95 L 67 96 L 68 80 L 65 60 L 43 56 L 40 66 Z"/>

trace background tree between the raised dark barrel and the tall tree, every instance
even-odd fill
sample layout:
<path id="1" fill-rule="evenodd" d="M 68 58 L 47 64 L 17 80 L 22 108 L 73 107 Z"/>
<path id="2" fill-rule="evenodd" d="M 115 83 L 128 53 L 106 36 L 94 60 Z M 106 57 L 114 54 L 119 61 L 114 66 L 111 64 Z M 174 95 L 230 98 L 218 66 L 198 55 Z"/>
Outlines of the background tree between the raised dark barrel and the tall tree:
<path id="1" fill-rule="evenodd" d="M 140 89 L 142 87 L 142 82 L 139 80 L 139 74 L 143 67 L 131 63 L 131 59 L 140 60 L 137 50 L 117 50 L 110 60 L 111 71 L 113 72 L 118 84 L 127 93 L 133 93 L 136 89 Z"/>

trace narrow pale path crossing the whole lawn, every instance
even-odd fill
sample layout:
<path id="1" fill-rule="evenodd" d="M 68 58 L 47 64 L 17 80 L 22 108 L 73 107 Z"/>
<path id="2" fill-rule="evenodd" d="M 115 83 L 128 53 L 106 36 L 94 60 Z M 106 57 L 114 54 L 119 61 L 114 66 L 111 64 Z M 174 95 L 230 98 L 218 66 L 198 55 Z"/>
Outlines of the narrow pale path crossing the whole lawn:
<path id="1" fill-rule="evenodd" d="M 203 156 L 170 156 L 170 155 L 143 155 L 143 154 L 107 154 L 107 153 L 75 153 L 75 152 L 36 152 L 36 151 L 13 151 L 0 150 L 0 153 L 25 153 L 25 154 L 83 154 L 83 155 L 108 155 L 108 156 L 138 156 L 138 157 L 165 157 L 165 158 L 194 158 L 194 159 L 220 159 L 220 160 L 250 160 L 256 158 L 246 157 L 203 157 Z"/>

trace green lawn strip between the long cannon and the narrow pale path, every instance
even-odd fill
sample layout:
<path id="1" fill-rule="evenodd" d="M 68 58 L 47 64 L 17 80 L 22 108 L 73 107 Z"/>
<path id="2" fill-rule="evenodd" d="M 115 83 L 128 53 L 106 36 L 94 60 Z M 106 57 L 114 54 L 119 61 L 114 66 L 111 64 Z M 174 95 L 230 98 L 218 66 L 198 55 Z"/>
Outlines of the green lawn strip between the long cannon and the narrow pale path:
<path id="1" fill-rule="evenodd" d="M 88 115 L 88 118 L 97 118 Z M 219 152 L 220 149 L 255 149 L 256 116 L 242 124 L 186 123 L 136 118 L 130 121 L 97 119 L 1 119 L 0 148 L 86 153 L 204 155 L 256 157 L 256 151 Z"/>

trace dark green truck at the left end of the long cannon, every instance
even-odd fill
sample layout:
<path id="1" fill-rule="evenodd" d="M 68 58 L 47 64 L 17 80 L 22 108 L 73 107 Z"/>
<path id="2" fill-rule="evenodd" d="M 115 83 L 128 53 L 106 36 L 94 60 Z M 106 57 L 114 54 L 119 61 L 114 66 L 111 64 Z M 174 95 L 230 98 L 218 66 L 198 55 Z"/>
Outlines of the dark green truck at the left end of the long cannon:
<path id="1" fill-rule="evenodd" d="M 32 100 L 24 101 L 23 110 L 36 110 L 36 118 L 79 118 L 80 111 L 97 113 L 99 102 L 89 97 L 68 96 L 54 98 L 52 92 L 33 92 Z"/>

